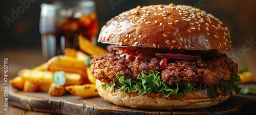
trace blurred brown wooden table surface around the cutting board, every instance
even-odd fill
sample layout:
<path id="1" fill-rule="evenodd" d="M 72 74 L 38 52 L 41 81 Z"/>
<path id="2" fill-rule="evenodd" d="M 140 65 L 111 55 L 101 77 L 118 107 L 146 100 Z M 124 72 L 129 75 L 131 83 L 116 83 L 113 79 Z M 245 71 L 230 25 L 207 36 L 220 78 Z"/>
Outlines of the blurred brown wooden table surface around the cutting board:
<path id="1" fill-rule="evenodd" d="M 226 52 L 229 57 L 234 59 L 238 65 L 239 69 L 243 67 L 248 67 L 248 69 L 254 74 L 256 79 L 256 48 L 251 48 L 248 51 L 242 52 L 243 49 L 235 49 Z M 237 53 L 237 54 L 236 54 Z M 236 56 L 237 55 L 237 56 Z M 32 66 L 37 66 L 44 63 L 41 56 L 41 49 L 4 49 L 0 51 L 0 101 L 4 101 L 4 58 L 8 58 L 8 80 L 17 76 L 17 72 L 23 68 L 31 68 Z M 3 104 L 0 106 L 0 114 L 51 114 L 44 112 L 28 111 L 21 108 L 8 105 L 8 111 L 4 110 Z"/>

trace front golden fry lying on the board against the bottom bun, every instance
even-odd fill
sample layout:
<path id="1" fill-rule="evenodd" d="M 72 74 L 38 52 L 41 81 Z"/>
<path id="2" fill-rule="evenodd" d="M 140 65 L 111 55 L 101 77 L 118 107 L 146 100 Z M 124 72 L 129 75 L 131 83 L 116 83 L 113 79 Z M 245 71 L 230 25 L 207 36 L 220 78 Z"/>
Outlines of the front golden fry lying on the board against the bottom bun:
<path id="1" fill-rule="evenodd" d="M 99 96 L 95 92 L 95 84 L 70 85 L 66 87 L 66 90 L 73 95 L 77 95 L 85 98 Z"/>

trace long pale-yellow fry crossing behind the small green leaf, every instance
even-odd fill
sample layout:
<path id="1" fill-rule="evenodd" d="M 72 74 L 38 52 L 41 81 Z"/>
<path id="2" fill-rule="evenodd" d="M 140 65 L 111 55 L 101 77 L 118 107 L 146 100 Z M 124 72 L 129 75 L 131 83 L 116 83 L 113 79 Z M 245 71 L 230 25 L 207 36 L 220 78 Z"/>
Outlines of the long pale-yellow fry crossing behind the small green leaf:
<path id="1" fill-rule="evenodd" d="M 22 69 L 18 72 L 18 75 L 24 80 L 30 81 L 34 84 L 51 84 L 52 75 L 54 72 L 36 71 L 30 69 Z M 82 84 L 83 79 L 80 74 L 77 73 L 65 73 L 66 83 L 65 85 Z"/>

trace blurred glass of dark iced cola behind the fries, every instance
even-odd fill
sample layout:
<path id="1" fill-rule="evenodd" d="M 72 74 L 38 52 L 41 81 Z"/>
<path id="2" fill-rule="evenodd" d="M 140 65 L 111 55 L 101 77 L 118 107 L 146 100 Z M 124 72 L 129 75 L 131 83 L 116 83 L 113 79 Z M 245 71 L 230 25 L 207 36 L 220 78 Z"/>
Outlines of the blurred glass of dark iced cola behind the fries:
<path id="1" fill-rule="evenodd" d="M 93 1 L 53 1 L 41 4 L 39 31 L 42 55 L 47 61 L 65 48 L 80 50 L 78 35 L 95 42 L 98 33 Z"/>

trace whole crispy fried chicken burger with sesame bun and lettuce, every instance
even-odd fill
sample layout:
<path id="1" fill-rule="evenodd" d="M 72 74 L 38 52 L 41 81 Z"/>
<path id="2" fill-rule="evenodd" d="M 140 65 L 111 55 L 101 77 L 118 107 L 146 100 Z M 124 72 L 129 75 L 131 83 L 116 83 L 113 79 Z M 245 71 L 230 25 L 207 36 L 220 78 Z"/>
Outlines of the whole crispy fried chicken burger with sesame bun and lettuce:
<path id="1" fill-rule="evenodd" d="M 109 52 L 91 57 L 98 94 L 143 109 L 198 109 L 239 93 L 228 28 L 203 10 L 152 5 L 125 11 L 101 28 Z"/>

